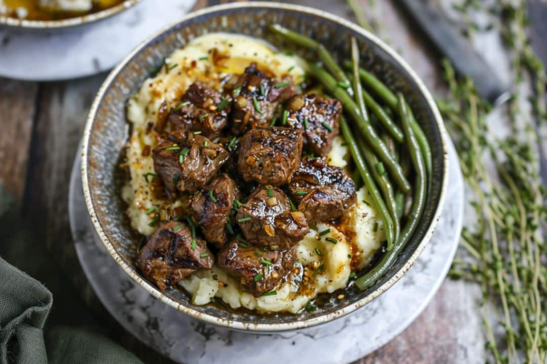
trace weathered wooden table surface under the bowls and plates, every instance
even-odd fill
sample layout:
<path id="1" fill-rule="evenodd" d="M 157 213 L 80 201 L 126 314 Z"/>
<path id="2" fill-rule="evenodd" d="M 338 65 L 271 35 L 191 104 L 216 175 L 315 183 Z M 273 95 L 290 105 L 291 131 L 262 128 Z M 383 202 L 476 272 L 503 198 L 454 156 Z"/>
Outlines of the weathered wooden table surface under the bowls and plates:
<path id="1" fill-rule="evenodd" d="M 378 32 L 417 71 L 433 93 L 443 90 L 438 55 L 395 7 L 396 0 L 367 8 Z M 198 0 L 195 8 L 218 1 Z M 343 0 L 300 0 L 352 19 Z M 1 55 L 0 55 L 1 56 Z M 0 255 L 54 293 L 48 325 L 87 325 L 102 331 L 146 363 L 171 363 L 125 332 L 98 302 L 78 264 L 68 224 L 69 175 L 91 102 L 106 74 L 66 82 L 0 78 L 0 182 L 16 206 L 0 224 Z M 418 319 L 385 347 L 359 363 L 484 362 L 477 291 L 445 280 Z M 366 333 L 363 333 L 366 340 Z"/>

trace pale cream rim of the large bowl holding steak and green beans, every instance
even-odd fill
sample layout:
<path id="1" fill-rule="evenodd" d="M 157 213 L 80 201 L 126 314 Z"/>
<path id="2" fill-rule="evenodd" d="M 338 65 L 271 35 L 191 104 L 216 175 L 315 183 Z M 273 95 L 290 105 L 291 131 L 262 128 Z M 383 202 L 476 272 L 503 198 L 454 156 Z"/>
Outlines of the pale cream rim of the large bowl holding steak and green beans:
<path id="1" fill-rule="evenodd" d="M 376 46 L 379 46 L 383 51 L 385 51 L 389 56 L 391 56 L 395 62 L 397 62 L 403 69 L 408 73 L 410 79 L 414 81 L 418 87 L 418 90 L 422 93 L 422 96 L 426 99 L 426 103 L 430 111 L 432 111 L 433 118 L 435 123 L 437 124 L 437 127 L 439 129 L 440 134 L 440 141 L 441 141 L 441 148 L 443 150 L 443 182 L 441 184 L 441 190 L 440 190 L 440 196 L 437 204 L 437 208 L 433 214 L 432 220 L 427 227 L 427 231 L 424 234 L 424 237 L 422 238 L 422 241 L 418 244 L 416 247 L 416 250 L 410 258 L 405 262 L 405 264 L 394 273 L 394 275 L 388 279 L 387 282 L 382 284 L 380 287 L 377 287 L 374 291 L 372 291 L 369 295 L 363 297 L 362 299 L 351 303 L 350 305 L 336 309 L 336 311 L 329 312 L 327 314 L 321 315 L 319 317 L 315 318 L 309 318 L 305 320 L 299 320 L 294 321 L 291 323 L 276 323 L 276 324 L 256 324 L 256 323 L 242 323 L 237 320 L 232 319 L 224 319 L 219 318 L 211 314 L 202 313 L 199 311 L 196 311 L 195 309 L 191 308 L 190 306 L 184 306 L 181 303 L 178 303 L 177 301 L 174 301 L 170 297 L 167 297 L 163 293 L 161 293 L 158 289 L 156 289 L 151 283 L 143 279 L 140 275 L 138 275 L 136 272 L 132 270 L 132 268 L 126 264 L 126 262 L 121 258 L 117 250 L 114 248 L 113 244 L 108 240 L 108 237 L 106 233 L 103 231 L 102 226 L 100 222 L 97 219 L 97 216 L 95 214 L 93 202 L 91 200 L 91 193 L 89 188 L 89 181 L 88 181 L 88 149 L 89 149 L 89 140 L 91 136 L 91 129 L 94 124 L 94 120 L 98 111 L 98 106 L 101 103 L 101 100 L 103 99 L 104 94 L 106 93 L 107 89 L 112 85 L 113 81 L 119 74 L 119 72 L 126 67 L 126 65 L 129 63 L 129 61 L 142 49 L 144 49 L 150 41 L 152 41 L 155 38 L 160 37 L 162 34 L 167 32 L 169 29 L 177 26 L 178 24 L 188 21 L 190 19 L 193 19 L 195 17 L 199 17 L 202 15 L 210 14 L 210 13 L 216 13 L 219 11 L 224 10 L 231 10 L 231 9 L 241 9 L 241 8 L 270 8 L 270 9 L 282 9 L 287 11 L 298 11 L 299 13 L 309 14 L 313 16 L 323 17 L 325 19 L 328 19 L 330 21 L 334 21 L 338 23 L 341 26 L 344 26 L 346 28 L 351 29 L 351 31 L 354 31 L 363 37 L 367 38 L 371 42 L 373 42 Z M 366 303 L 371 302 L 372 300 L 376 299 L 378 296 L 380 296 L 383 292 L 385 292 L 387 289 L 392 287 L 393 284 L 395 284 L 401 277 L 405 275 L 405 273 L 410 269 L 410 267 L 414 264 L 414 262 L 417 260 L 418 256 L 422 253 L 423 249 L 426 247 L 427 243 L 429 242 L 430 238 L 433 235 L 433 231 L 435 229 L 435 226 L 437 226 L 437 222 L 440 217 L 440 213 L 442 211 L 445 196 L 446 196 L 446 190 L 448 186 L 448 174 L 449 174 L 449 158 L 448 158 L 448 152 L 447 152 L 447 145 L 448 145 L 449 137 L 447 135 L 443 119 L 440 116 L 440 112 L 437 108 L 437 104 L 435 104 L 434 99 L 432 95 L 429 93 L 427 87 L 424 85 L 423 81 L 420 79 L 420 77 L 417 76 L 414 70 L 411 69 L 410 65 L 404 61 L 404 59 L 399 56 L 397 52 L 395 52 L 391 47 L 389 47 L 387 44 L 385 44 L 382 40 L 376 37 L 376 35 L 366 31 L 365 29 L 359 27 L 357 24 L 352 23 L 348 20 L 343 19 L 342 17 L 329 14 L 323 10 L 314 9 L 310 7 L 305 7 L 302 5 L 293 5 L 293 4 L 286 4 L 286 3 L 279 3 L 279 2 L 263 2 L 263 1 L 257 1 L 257 2 L 244 2 L 244 3 L 229 3 L 229 4 L 221 4 L 216 5 L 213 7 L 193 11 L 192 13 L 189 13 L 188 15 L 184 16 L 181 20 L 179 20 L 176 23 L 173 23 L 171 25 L 168 25 L 164 28 L 162 28 L 159 32 L 156 32 L 154 35 L 148 37 L 147 39 L 143 40 L 133 51 L 129 53 L 107 76 L 106 80 L 103 81 L 99 91 L 97 92 L 97 96 L 95 97 L 95 100 L 93 104 L 91 105 L 91 109 L 89 111 L 88 119 L 85 124 L 84 129 L 84 136 L 83 136 L 83 143 L 82 143 L 82 184 L 83 184 L 83 190 L 84 190 L 84 198 L 86 206 L 88 207 L 88 212 L 91 217 L 91 221 L 95 227 L 95 230 L 97 231 L 98 236 L 101 238 L 101 241 L 103 242 L 104 246 L 107 248 L 108 253 L 112 255 L 114 260 L 118 262 L 118 264 L 123 268 L 123 270 L 131 276 L 132 279 L 134 279 L 141 287 L 143 287 L 145 290 L 148 291 L 148 293 L 152 294 L 156 299 L 159 299 L 160 301 L 166 303 L 168 306 L 173 307 L 174 309 L 177 309 L 178 311 L 181 311 L 185 314 L 190 315 L 191 317 L 204 321 L 206 323 L 226 327 L 228 329 L 234 329 L 234 330 L 241 330 L 241 331 L 250 331 L 250 332 L 280 332 L 280 331 L 289 331 L 289 330 L 296 330 L 296 329 L 305 329 L 306 327 L 315 326 L 318 324 L 327 323 L 329 321 L 332 321 L 334 319 L 343 317 L 356 309 L 363 307 L 366 305 Z"/>

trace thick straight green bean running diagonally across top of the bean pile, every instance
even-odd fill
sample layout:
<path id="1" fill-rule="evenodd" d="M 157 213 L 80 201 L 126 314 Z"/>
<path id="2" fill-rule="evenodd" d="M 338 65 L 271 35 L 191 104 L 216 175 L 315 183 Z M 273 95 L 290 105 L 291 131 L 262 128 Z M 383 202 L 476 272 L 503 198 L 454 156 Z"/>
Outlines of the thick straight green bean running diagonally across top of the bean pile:
<path id="1" fill-rule="evenodd" d="M 309 63 L 308 66 L 310 73 L 325 86 L 328 92 L 332 93 L 334 97 L 340 100 L 344 106 L 344 110 L 357 122 L 366 142 L 373 148 L 382 163 L 385 164 L 397 186 L 399 186 L 403 192 L 409 192 L 410 183 L 406 180 L 403 169 L 401 169 L 401 166 L 393 159 L 391 154 L 389 154 L 386 145 L 371 126 L 368 116 L 359 112 L 358 106 L 353 102 L 353 99 L 348 95 L 345 89 L 336 86 L 336 80 L 333 76 L 315 64 Z"/>

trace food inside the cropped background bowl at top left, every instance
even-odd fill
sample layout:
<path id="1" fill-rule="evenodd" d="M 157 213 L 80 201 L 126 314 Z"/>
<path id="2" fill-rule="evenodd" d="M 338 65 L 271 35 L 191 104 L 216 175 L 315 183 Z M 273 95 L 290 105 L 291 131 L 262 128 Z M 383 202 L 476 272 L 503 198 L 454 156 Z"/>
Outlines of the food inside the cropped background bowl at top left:
<path id="1" fill-rule="evenodd" d="M 0 0 L 0 16 L 24 20 L 58 20 L 96 13 L 124 0 Z"/>

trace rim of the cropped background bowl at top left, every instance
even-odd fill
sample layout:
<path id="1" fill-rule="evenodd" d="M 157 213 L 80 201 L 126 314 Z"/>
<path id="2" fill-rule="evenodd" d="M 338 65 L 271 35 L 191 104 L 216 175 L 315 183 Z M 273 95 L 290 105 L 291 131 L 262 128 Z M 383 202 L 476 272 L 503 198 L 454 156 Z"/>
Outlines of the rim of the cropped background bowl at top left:
<path id="1" fill-rule="evenodd" d="M 67 19 L 58 20 L 25 20 L 16 19 L 5 15 L 0 15 L 0 25 L 13 27 L 16 29 L 59 29 L 70 28 L 78 25 L 84 25 L 96 22 L 101 19 L 106 19 L 114 14 L 121 13 L 126 9 L 131 8 L 133 5 L 141 2 L 141 0 L 125 0 L 122 3 L 114 5 L 113 7 L 96 11 L 95 13 L 68 17 Z"/>

